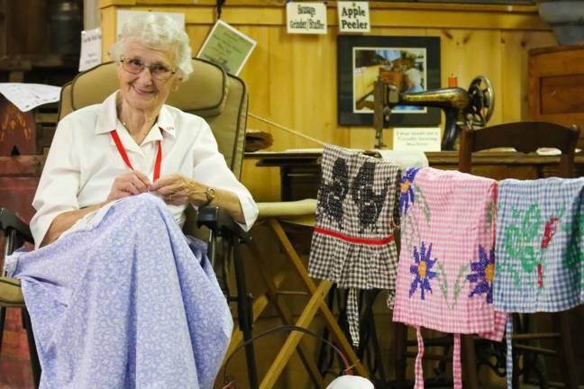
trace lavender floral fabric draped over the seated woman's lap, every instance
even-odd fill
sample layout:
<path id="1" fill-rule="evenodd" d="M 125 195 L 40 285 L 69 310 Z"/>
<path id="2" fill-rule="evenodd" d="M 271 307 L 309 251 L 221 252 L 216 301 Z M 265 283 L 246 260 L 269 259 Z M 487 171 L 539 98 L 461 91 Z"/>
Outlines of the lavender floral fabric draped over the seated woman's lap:
<path id="1" fill-rule="evenodd" d="M 233 321 L 205 257 L 160 199 L 115 203 L 90 231 L 9 257 L 41 388 L 211 388 Z"/>

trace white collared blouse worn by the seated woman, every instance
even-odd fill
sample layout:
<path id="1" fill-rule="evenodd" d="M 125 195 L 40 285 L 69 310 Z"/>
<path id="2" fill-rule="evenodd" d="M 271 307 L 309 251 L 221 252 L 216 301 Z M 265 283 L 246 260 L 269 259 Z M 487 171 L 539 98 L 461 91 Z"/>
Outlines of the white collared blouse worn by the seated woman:
<path id="1" fill-rule="evenodd" d="M 134 170 L 151 180 L 161 140 L 160 177 L 180 173 L 205 185 L 232 191 L 242 205 L 245 216 L 242 227 L 249 230 L 258 216 L 258 206 L 250 192 L 233 176 L 205 120 L 163 105 L 158 122 L 138 145 L 117 119 L 116 93 L 107 97 L 103 104 L 69 113 L 59 122 L 32 201 L 37 213 L 32 217 L 31 231 L 37 247 L 59 213 L 105 201 L 115 177 L 130 171 L 110 135 L 114 129 Z M 182 225 L 187 205 L 168 206 Z"/>

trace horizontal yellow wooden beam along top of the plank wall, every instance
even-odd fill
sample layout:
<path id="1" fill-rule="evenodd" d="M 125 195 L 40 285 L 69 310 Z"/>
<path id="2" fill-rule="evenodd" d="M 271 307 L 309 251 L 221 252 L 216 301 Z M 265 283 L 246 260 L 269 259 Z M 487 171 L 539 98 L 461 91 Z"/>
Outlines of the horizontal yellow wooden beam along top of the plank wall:
<path id="1" fill-rule="evenodd" d="M 184 13 L 187 24 L 213 24 L 215 2 L 200 0 L 101 0 L 102 8 L 132 7 L 136 11 Z M 371 3 L 371 26 L 464 28 L 481 30 L 550 31 L 534 6 L 528 5 L 451 5 L 412 3 Z M 286 7 L 281 3 L 242 0 L 224 5 L 222 20 L 233 25 L 285 26 Z M 334 2 L 327 7 L 330 27 L 338 24 Z"/>

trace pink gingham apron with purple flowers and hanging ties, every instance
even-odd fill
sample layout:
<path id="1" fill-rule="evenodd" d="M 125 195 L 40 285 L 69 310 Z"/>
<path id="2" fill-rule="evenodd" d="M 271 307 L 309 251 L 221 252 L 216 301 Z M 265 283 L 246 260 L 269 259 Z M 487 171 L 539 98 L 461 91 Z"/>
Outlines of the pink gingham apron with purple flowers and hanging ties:
<path id="1" fill-rule="evenodd" d="M 454 334 L 454 387 L 461 388 L 460 334 L 500 341 L 506 316 L 492 306 L 497 183 L 432 167 L 402 176 L 401 250 L 394 321 L 417 330 L 415 388 L 424 387 L 421 327 Z"/>

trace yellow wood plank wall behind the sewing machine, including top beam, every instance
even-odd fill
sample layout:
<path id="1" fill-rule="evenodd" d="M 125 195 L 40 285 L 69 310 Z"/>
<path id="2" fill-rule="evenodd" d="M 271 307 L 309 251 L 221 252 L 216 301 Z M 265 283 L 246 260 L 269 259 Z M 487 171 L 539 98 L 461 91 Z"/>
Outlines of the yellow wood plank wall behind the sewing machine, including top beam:
<path id="1" fill-rule="evenodd" d="M 337 124 L 335 2 L 328 3 L 328 34 L 286 32 L 283 0 L 227 1 L 222 19 L 258 41 L 240 75 L 250 91 L 250 112 L 273 122 L 344 147 L 370 149 L 371 128 Z M 104 52 L 114 42 L 117 9 L 186 14 L 193 51 L 200 48 L 214 23 L 215 2 L 199 0 L 101 0 Z M 441 38 L 442 85 L 452 74 L 466 87 L 473 77 L 488 77 L 496 91 L 492 124 L 527 117 L 527 50 L 554 46 L 549 27 L 534 6 L 435 5 L 370 2 L 370 35 L 438 36 Z M 248 127 L 270 131 L 272 150 L 317 148 L 318 144 L 250 118 Z M 391 145 L 392 133 L 386 131 Z M 255 167 L 246 160 L 243 183 L 258 201 L 279 199 L 276 168 Z"/>

